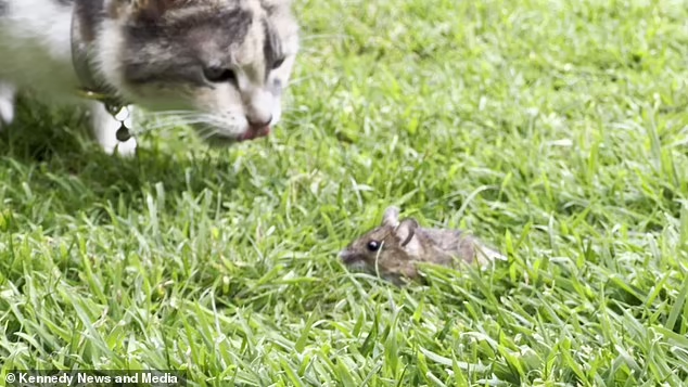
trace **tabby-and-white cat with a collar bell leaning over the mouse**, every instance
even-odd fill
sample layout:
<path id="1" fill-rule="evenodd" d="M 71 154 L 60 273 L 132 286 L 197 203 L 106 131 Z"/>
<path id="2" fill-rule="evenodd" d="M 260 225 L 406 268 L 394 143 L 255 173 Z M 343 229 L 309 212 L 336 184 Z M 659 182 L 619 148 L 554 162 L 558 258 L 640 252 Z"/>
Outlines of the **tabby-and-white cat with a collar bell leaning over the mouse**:
<path id="1" fill-rule="evenodd" d="M 27 88 L 86 103 L 111 153 L 135 152 L 116 139 L 135 105 L 179 113 L 212 144 L 265 137 L 297 52 L 291 0 L 0 0 L 0 127 Z"/>

